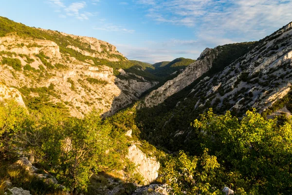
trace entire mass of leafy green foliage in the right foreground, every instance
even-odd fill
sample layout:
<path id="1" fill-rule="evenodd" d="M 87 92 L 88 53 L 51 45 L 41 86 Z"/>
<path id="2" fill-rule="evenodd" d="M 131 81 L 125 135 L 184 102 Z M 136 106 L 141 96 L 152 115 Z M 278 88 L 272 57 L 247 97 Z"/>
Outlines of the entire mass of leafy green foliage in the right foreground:
<path id="1" fill-rule="evenodd" d="M 241 121 L 230 112 L 212 110 L 196 119 L 197 156 L 183 151 L 163 159 L 162 174 L 175 195 L 220 194 L 224 186 L 237 195 L 292 193 L 292 123 L 278 125 L 248 111 Z"/>

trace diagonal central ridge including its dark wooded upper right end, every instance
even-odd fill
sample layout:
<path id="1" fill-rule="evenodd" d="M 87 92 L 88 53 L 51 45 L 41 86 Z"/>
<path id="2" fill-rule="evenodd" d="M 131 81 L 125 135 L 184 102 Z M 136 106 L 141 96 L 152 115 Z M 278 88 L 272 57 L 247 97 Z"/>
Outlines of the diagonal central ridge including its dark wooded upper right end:
<path id="1" fill-rule="evenodd" d="M 176 78 L 168 80 L 163 86 L 159 87 L 157 90 L 152 91 L 144 100 L 144 105 L 146 107 L 152 107 L 162 103 L 166 98 L 174 95 L 175 93 L 181 91 L 186 86 L 190 85 L 196 79 L 200 78 L 203 74 L 209 71 L 215 72 L 220 70 L 222 67 L 226 66 L 232 60 L 237 59 L 247 48 L 251 46 L 252 43 L 242 43 L 234 45 L 225 45 L 222 47 L 216 47 L 214 49 L 206 48 L 199 59 L 189 66 L 179 74 Z M 226 58 L 225 55 L 229 55 L 229 52 L 237 49 L 233 55 L 230 55 L 230 59 Z M 227 54 L 226 54 L 227 53 Z M 223 61 L 221 59 L 224 59 Z M 175 65 L 176 63 L 170 63 Z"/>

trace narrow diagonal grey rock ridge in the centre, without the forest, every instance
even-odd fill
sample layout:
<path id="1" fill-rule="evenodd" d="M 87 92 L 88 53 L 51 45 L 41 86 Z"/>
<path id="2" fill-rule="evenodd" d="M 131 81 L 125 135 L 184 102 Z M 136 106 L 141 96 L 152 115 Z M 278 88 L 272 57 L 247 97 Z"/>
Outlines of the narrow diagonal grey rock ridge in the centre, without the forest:
<path id="1" fill-rule="evenodd" d="M 186 67 L 176 78 L 168 80 L 163 86 L 152 91 L 141 106 L 152 107 L 158 105 L 164 102 L 166 98 L 190 85 L 212 67 L 212 62 L 217 55 L 218 51 L 216 49 L 207 48 L 197 61 Z"/>

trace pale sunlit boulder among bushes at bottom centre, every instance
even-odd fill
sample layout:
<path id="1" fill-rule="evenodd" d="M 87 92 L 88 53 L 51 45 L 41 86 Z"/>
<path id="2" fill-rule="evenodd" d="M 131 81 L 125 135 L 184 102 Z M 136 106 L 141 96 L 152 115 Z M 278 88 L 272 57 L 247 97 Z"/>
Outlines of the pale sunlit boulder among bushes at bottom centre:
<path id="1" fill-rule="evenodd" d="M 147 157 L 136 145 L 129 147 L 128 159 L 137 166 L 137 171 L 146 179 L 146 184 L 158 177 L 160 163 L 153 157 Z"/>

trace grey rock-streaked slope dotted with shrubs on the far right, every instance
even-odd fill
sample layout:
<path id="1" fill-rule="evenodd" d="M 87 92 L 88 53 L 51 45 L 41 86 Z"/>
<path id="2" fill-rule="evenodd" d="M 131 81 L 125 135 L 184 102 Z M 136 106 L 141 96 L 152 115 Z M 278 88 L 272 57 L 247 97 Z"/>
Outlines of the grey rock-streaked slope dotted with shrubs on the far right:
<path id="1" fill-rule="evenodd" d="M 251 107 L 261 112 L 283 98 L 290 91 L 292 78 L 291 24 L 260 40 L 224 71 L 202 80 L 188 98 L 200 98 L 196 108 L 211 104 L 235 112 Z"/>

